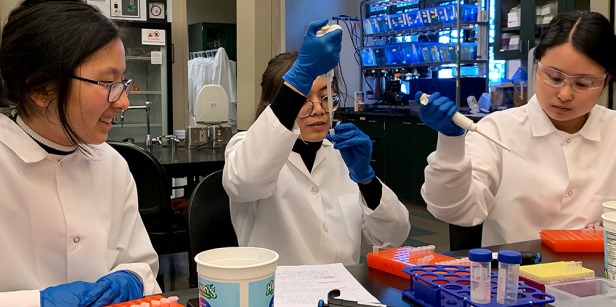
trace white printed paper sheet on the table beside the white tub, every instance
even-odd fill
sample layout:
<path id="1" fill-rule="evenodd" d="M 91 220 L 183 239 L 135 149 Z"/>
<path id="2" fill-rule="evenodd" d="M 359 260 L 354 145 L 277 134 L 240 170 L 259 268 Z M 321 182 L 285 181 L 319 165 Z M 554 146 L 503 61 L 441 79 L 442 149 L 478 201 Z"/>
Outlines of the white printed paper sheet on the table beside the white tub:
<path id="1" fill-rule="evenodd" d="M 278 266 L 274 305 L 276 307 L 314 307 L 327 294 L 340 290 L 337 298 L 362 303 L 379 303 L 341 264 Z"/>

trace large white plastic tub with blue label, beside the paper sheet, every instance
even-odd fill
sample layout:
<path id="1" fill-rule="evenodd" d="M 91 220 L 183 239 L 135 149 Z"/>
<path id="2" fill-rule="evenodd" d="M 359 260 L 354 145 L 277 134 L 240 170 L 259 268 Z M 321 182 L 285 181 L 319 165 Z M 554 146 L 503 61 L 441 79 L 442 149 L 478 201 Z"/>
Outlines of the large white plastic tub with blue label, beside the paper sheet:
<path id="1" fill-rule="evenodd" d="M 274 303 L 278 253 L 258 247 L 211 249 L 195 256 L 199 306 L 254 307 Z"/>

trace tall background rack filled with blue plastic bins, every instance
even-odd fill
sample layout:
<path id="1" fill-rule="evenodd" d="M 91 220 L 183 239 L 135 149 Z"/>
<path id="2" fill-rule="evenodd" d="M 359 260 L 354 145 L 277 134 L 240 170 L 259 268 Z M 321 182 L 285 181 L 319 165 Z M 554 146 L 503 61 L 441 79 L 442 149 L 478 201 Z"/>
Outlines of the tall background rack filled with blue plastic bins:
<path id="1" fill-rule="evenodd" d="M 464 4 L 466 3 L 466 4 Z M 445 4 L 448 7 L 455 7 L 455 20 L 447 19 L 443 15 L 432 13 L 425 13 L 426 10 L 431 10 L 435 8 L 443 8 L 444 6 L 440 6 L 439 4 Z M 474 20 L 468 20 L 462 18 L 463 7 L 476 7 Z M 441 69 L 451 69 L 453 79 L 455 82 L 451 84 L 453 87 L 451 92 L 455 93 L 454 95 L 450 95 L 449 97 L 452 100 L 455 100 L 458 107 L 462 109 L 466 109 L 468 104 L 466 102 L 466 97 L 470 96 L 461 93 L 460 88 L 462 86 L 469 87 L 469 84 L 463 85 L 461 79 L 480 79 L 482 81 L 482 86 L 480 88 L 474 89 L 472 93 L 475 97 L 480 97 L 482 93 L 488 92 L 488 71 L 489 71 L 489 23 L 488 20 L 488 12 L 490 1 L 489 0 L 460 0 L 460 1 L 428 1 L 428 0 L 390 0 L 390 1 L 377 1 L 377 0 L 369 0 L 365 2 L 365 5 L 362 6 L 360 10 L 360 23 L 361 23 L 361 31 L 360 31 L 360 44 L 359 51 L 363 54 L 372 54 L 374 55 L 375 61 L 374 63 L 369 63 L 369 60 L 364 59 L 362 54 L 361 59 L 361 71 L 362 71 L 362 81 L 360 90 L 364 90 L 366 92 L 365 100 L 367 102 L 376 102 L 383 104 L 401 104 L 404 105 L 407 103 L 407 100 L 413 99 L 414 93 L 406 93 L 406 95 L 402 94 L 397 90 L 397 84 L 393 86 L 389 86 L 388 82 L 398 80 L 411 80 L 412 79 L 423 79 L 423 78 L 439 78 L 438 71 Z M 375 9 L 376 8 L 376 9 Z M 418 22 L 417 24 L 421 24 L 420 26 L 416 26 L 413 22 L 413 25 L 410 23 L 411 17 L 404 16 L 407 12 L 413 11 L 422 11 L 425 13 L 422 18 L 424 20 L 434 20 L 435 22 L 432 24 L 426 23 L 425 21 Z M 383 15 L 387 14 L 387 15 Z M 431 17 L 426 17 L 426 14 L 430 14 Z M 444 14 L 447 15 L 447 14 Z M 378 27 L 375 25 L 374 27 L 366 26 L 367 23 L 371 23 L 374 20 L 374 16 L 382 16 L 382 18 L 387 19 L 383 24 L 388 24 L 391 28 L 388 27 Z M 466 16 L 466 15 L 465 15 Z M 380 18 L 380 17 L 379 17 Z M 419 19 L 422 19 L 419 18 Z M 390 22 L 391 20 L 391 22 Z M 405 24 L 405 20 L 408 21 Z M 380 22 L 380 21 L 379 21 Z M 377 31 L 373 31 L 372 33 L 370 29 L 377 29 Z M 368 30 L 367 30 L 368 29 Z M 439 44 L 437 41 L 439 40 L 439 31 L 451 31 L 450 37 L 455 40 L 453 43 L 449 44 Z M 457 37 L 454 37 L 453 33 L 457 33 Z M 463 39 L 462 33 L 465 33 L 465 39 L 472 40 L 476 44 L 476 49 L 474 52 L 471 51 L 471 55 L 469 56 L 466 52 L 463 54 L 462 49 L 467 50 L 466 47 L 463 46 L 468 43 L 463 43 L 461 40 Z M 428 60 L 419 60 L 411 61 L 407 59 L 403 60 L 387 60 L 388 63 L 379 63 L 382 61 L 376 60 L 377 58 L 383 59 L 385 57 L 389 57 L 390 47 L 404 49 L 402 51 L 397 50 L 394 53 L 402 53 L 404 56 L 408 58 L 415 58 L 415 56 L 409 56 L 409 52 L 407 51 L 408 47 L 405 46 L 404 43 L 392 43 L 396 41 L 400 41 L 400 37 L 408 36 L 408 35 L 416 35 L 416 34 L 425 34 L 422 35 L 422 40 L 424 42 L 417 42 L 417 48 L 426 48 L 425 44 L 431 44 L 430 42 L 438 45 L 438 47 L 428 47 L 428 48 L 437 48 L 437 49 L 445 49 L 447 48 L 445 45 L 450 45 L 451 51 L 449 56 L 445 57 L 444 55 L 436 60 L 434 57 Z M 474 35 L 473 37 L 470 37 Z M 428 40 L 425 42 L 425 40 Z M 379 44 L 379 42 L 381 42 Z M 415 44 L 415 43 L 410 43 Z M 453 46 L 451 46 L 453 45 Z M 372 49 L 375 48 L 375 50 Z M 415 47 L 412 47 L 413 49 Z M 471 47 L 472 48 L 472 47 Z M 369 49 L 369 51 L 366 51 Z M 387 50 L 387 55 L 384 53 Z M 414 53 L 414 52 L 410 52 Z M 423 53 L 428 53 L 423 50 Z M 436 52 L 439 53 L 438 51 Z M 441 54 L 445 54 L 445 52 L 440 52 Z M 434 51 L 433 51 L 434 54 Z M 417 52 L 417 56 L 419 52 Z M 425 55 L 424 55 L 425 56 Z M 420 56 L 421 57 L 421 56 Z M 429 57 L 429 56 L 428 56 Z M 367 58 L 370 58 L 368 56 Z M 471 71 L 472 76 L 463 75 L 463 70 L 469 69 Z M 471 81 L 473 84 L 476 82 Z M 410 85 L 409 85 L 410 87 Z M 430 91 L 429 89 L 424 89 L 424 91 Z M 433 91 L 433 89 L 432 89 Z M 393 92 L 393 93 L 390 93 Z"/>

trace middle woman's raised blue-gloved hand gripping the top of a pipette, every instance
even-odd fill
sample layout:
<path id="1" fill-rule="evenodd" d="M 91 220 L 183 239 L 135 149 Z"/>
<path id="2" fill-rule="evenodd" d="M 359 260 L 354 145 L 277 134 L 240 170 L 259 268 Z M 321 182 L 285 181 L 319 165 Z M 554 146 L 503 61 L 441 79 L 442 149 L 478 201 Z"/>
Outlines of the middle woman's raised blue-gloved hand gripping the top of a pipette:
<path id="1" fill-rule="evenodd" d="M 342 31 L 335 30 L 321 37 L 316 33 L 327 24 L 327 19 L 313 21 L 304 35 L 297 59 L 282 77 L 304 95 L 308 95 L 312 82 L 332 70 L 340 61 Z"/>

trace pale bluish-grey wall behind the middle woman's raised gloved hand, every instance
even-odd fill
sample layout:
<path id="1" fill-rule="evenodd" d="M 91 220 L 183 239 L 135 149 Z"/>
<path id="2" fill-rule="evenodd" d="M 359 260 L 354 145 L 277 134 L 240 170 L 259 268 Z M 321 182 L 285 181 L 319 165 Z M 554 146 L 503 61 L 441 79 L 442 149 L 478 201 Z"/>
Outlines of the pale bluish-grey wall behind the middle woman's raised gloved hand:
<path id="1" fill-rule="evenodd" d="M 287 51 L 297 51 L 302 43 L 304 33 L 311 21 L 338 15 L 359 17 L 357 0 L 286 0 L 285 1 L 285 40 Z M 330 21 L 330 23 L 334 23 Z M 342 25 L 342 22 L 341 22 Z M 346 92 L 349 94 L 344 106 L 353 105 L 353 92 L 359 90 L 360 67 L 355 61 L 355 50 L 350 41 L 349 33 L 342 25 L 343 40 L 340 53 L 340 67 L 346 82 Z"/>

